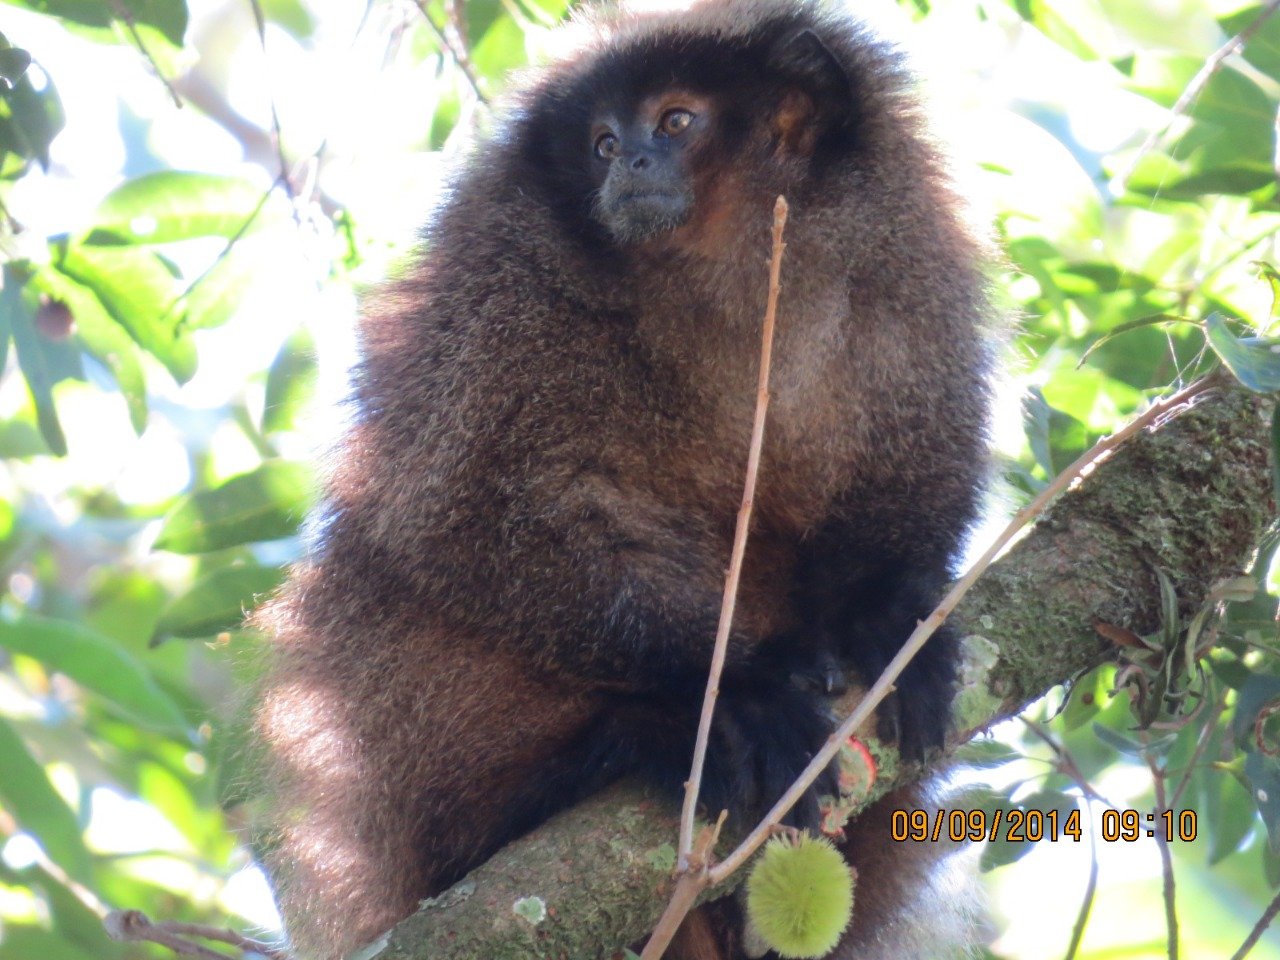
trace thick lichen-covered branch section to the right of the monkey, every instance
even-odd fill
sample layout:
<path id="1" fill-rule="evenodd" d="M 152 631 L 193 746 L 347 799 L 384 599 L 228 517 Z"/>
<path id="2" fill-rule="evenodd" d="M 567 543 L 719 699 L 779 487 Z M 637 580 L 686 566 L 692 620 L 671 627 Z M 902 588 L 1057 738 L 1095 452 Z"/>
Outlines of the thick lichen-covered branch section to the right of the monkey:
<path id="1" fill-rule="evenodd" d="M 1155 631 L 1156 570 L 1189 614 L 1247 567 L 1274 516 L 1268 412 L 1243 389 L 1211 393 L 1135 436 L 987 571 L 956 617 L 998 649 L 987 681 L 997 716 L 1106 659 L 1114 648 L 1094 622 Z"/>

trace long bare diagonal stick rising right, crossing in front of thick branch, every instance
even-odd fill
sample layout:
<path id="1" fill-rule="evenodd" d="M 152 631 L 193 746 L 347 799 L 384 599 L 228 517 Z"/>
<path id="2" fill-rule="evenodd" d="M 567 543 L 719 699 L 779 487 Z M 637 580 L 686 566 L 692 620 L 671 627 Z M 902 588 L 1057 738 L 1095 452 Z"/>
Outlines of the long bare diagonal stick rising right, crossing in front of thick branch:
<path id="1" fill-rule="evenodd" d="M 986 553 L 978 558 L 978 561 L 969 568 L 969 571 L 956 581 L 942 602 L 938 604 L 937 609 L 933 611 L 925 620 L 920 621 L 915 631 L 908 637 L 906 643 L 902 644 L 902 649 L 899 650 L 897 655 L 884 668 L 867 695 L 859 701 L 854 712 L 845 718 L 844 723 L 833 732 L 827 742 L 823 745 L 822 750 L 809 762 L 809 765 L 804 768 L 804 772 L 796 780 L 795 783 L 783 794 L 782 799 L 773 805 L 764 819 L 751 831 L 751 833 L 744 840 L 739 847 L 730 854 L 723 863 L 718 864 L 710 870 L 712 883 L 719 883 L 722 879 L 728 877 L 733 870 L 745 864 L 750 859 L 751 854 L 759 849 L 759 846 L 769 838 L 769 833 L 773 826 L 787 814 L 787 812 L 795 806 L 796 801 L 804 795 L 804 791 L 818 778 L 818 776 L 827 768 L 840 753 L 840 748 L 844 742 L 852 735 L 852 732 L 867 721 L 872 710 L 883 700 L 890 690 L 893 687 L 893 681 L 902 673 L 906 664 L 910 663 L 911 658 L 924 646 L 924 641 L 928 640 L 933 632 L 942 625 L 942 622 L 951 614 L 960 599 L 969 593 L 969 589 L 974 585 L 979 576 L 991 566 L 991 562 L 1000 554 L 1001 550 L 1009 544 L 1010 540 L 1032 520 L 1038 517 L 1048 507 L 1050 502 L 1053 500 L 1060 493 L 1066 490 L 1075 480 L 1089 472 L 1100 461 L 1110 456 L 1112 451 L 1123 445 L 1129 438 L 1140 433 L 1142 430 L 1151 426 L 1153 422 L 1161 417 L 1169 415 L 1170 411 L 1183 406 L 1188 401 L 1198 397 L 1201 393 L 1210 390 L 1217 385 L 1217 380 L 1213 376 L 1204 378 L 1203 380 L 1197 380 L 1189 387 L 1183 388 L 1178 393 L 1172 394 L 1166 399 L 1158 399 L 1151 404 L 1142 415 L 1134 417 L 1134 420 L 1128 424 L 1121 430 L 1105 436 L 1098 440 L 1091 449 L 1083 453 L 1071 466 L 1064 470 L 1057 477 L 1046 486 L 1036 499 L 1018 511 L 1014 518 L 1009 522 L 1009 526 L 1001 531 L 1000 536 L 996 538 L 995 543 L 987 548 Z"/>

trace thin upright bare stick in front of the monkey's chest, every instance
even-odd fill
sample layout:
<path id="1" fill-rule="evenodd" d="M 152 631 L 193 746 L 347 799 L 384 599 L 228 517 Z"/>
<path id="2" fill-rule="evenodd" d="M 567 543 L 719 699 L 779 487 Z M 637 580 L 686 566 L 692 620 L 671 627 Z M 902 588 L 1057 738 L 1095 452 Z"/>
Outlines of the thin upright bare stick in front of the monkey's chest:
<path id="1" fill-rule="evenodd" d="M 742 506 L 737 511 L 737 529 L 733 531 L 733 549 L 730 553 L 728 576 L 724 577 L 724 595 L 721 599 L 719 626 L 716 630 L 716 648 L 712 652 L 712 668 L 707 677 L 707 694 L 703 696 L 703 714 L 698 719 L 698 740 L 694 744 L 694 763 L 685 782 L 685 805 L 680 812 L 680 864 L 681 872 L 689 870 L 689 856 L 694 849 L 694 815 L 698 812 L 698 791 L 703 785 L 703 765 L 707 760 L 707 741 L 712 732 L 712 714 L 716 712 L 716 698 L 719 696 L 719 678 L 724 669 L 724 655 L 728 652 L 728 631 L 733 625 L 733 605 L 737 603 L 737 582 L 742 575 L 742 556 L 746 552 L 746 535 L 751 526 L 751 506 L 755 500 L 755 477 L 760 471 L 760 448 L 764 445 L 764 417 L 769 410 L 769 365 L 773 360 L 773 325 L 778 310 L 778 291 L 781 291 L 782 232 L 787 225 L 787 201 L 778 197 L 773 205 L 773 256 L 769 260 L 769 297 L 764 307 L 764 332 L 760 334 L 760 375 L 755 389 L 755 421 L 751 424 L 751 447 L 746 454 L 746 480 L 742 484 Z"/>

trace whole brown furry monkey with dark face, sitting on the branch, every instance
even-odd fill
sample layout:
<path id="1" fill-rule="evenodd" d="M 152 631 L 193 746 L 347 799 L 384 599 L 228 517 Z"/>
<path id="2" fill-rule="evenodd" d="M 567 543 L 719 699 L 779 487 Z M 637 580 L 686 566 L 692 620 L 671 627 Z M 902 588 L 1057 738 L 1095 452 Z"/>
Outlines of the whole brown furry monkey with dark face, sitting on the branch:
<path id="1" fill-rule="evenodd" d="M 623 773 L 687 774 L 778 193 L 710 809 L 773 803 L 829 730 L 794 675 L 874 676 L 974 515 L 982 252 L 892 51 L 795 0 L 593 29 L 513 97 L 369 306 L 323 535 L 257 617 L 264 861 L 306 956 L 372 940 Z M 658 136 L 672 110 L 692 118 Z M 941 742 L 954 659 L 942 632 L 900 680 L 905 753 Z"/>

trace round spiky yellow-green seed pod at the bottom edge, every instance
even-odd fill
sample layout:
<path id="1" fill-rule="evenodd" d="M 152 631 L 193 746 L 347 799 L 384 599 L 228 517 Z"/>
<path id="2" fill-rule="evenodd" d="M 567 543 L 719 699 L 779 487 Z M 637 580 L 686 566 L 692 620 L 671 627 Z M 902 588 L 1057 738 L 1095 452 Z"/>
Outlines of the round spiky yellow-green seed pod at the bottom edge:
<path id="1" fill-rule="evenodd" d="M 748 916 L 786 960 L 829 952 L 852 909 L 854 877 L 826 837 L 774 837 L 746 881 Z"/>

